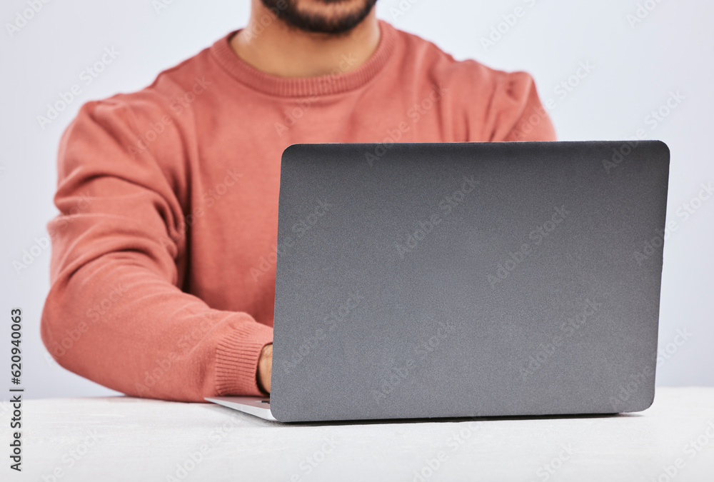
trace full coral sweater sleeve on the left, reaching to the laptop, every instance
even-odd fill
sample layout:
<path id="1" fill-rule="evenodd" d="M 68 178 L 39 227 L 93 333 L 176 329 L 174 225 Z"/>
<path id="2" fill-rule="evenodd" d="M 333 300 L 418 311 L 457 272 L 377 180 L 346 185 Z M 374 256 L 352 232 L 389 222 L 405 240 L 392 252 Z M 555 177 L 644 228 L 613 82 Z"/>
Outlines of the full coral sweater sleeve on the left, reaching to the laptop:
<path id="1" fill-rule="evenodd" d="M 61 366 L 131 396 L 259 395 L 258 356 L 272 328 L 180 288 L 186 141 L 167 129 L 136 155 L 127 149 L 136 133 L 118 98 L 85 104 L 64 132 L 42 340 Z"/>

